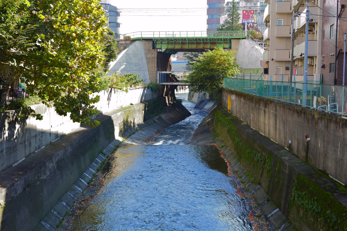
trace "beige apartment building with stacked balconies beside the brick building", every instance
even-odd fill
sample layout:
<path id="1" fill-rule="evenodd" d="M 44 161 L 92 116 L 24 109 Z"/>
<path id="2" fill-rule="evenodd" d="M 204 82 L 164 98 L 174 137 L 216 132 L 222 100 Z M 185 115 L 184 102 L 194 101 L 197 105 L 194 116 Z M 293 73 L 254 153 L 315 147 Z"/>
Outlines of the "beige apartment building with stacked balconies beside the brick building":
<path id="1" fill-rule="evenodd" d="M 292 0 L 265 0 L 264 12 L 264 43 L 266 51 L 263 53 L 261 64 L 264 68 L 264 80 L 290 81 L 290 55 L 291 55 L 291 24 L 293 11 L 295 14 L 294 28 L 294 62 L 292 81 L 301 82 L 304 79 L 304 53 L 305 53 L 305 29 L 306 29 L 306 1 Z M 323 7 L 322 0 L 314 3 Z M 308 28 L 308 83 L 319 83 L 321 79 L 321 43 L 322 43 L 322 10 L 314 3 L 308 3 L 310 19 Z M 295 76 L 294 76 L 295 75 Z M 283 77 L 282 77 L 283 76 Z"/>

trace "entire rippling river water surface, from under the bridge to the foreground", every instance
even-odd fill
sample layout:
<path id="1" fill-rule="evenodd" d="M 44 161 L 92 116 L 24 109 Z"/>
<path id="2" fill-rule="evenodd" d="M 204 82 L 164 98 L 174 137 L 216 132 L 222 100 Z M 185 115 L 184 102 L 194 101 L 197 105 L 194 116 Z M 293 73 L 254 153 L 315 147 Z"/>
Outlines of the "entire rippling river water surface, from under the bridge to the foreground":
<path id="1" fill-rule="evenodd" d="M 213 145 L 187 145 L 208 114 L 192 113 L 150 145 L 122 145 L 102 170 L 104 187 L 77 217 L 74 231 L 252 230 L 247 203 Z"/>

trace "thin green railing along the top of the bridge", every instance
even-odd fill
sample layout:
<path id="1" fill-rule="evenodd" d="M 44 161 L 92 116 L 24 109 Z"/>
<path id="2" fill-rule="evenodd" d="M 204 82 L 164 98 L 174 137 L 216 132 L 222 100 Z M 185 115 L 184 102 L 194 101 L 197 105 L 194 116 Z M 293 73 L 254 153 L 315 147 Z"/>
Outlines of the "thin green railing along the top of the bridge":
<path id="1" fill-rule="evenodd" d="M 245 31 L 152 31 L 124 34 L 130 38 L 192 38 L 192 37 L 245 37 Z"/>

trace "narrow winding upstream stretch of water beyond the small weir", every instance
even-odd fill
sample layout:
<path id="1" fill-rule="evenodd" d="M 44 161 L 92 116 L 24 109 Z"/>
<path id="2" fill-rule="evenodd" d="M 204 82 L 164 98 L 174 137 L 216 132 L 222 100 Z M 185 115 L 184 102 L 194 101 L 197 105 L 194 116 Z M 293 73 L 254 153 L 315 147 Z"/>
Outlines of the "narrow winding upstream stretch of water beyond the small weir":
<path id="1" fill-rule="evenodd" d="M 195 104 L 189 102 L 187 97 L 188 93 L 176 94 L 176 98 L 183 100 L 183 106 L 185 106 L 192 115 L 177 124 L 165 128 L 160 136 L 154 141 L 154 145 L 183 145 L 188 143 L 200 122 L 206 117 L 206 115 L 208 115 L 208 113 L 203 110 L 194 109 Z"/>

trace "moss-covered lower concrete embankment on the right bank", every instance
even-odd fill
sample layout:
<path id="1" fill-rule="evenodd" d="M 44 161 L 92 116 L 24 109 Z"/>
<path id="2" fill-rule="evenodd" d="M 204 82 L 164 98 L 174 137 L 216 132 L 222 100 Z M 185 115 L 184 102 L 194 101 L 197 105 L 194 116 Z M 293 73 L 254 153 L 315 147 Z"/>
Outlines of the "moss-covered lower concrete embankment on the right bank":
<path id="1" fill-rule="evenodd" d="M 204 119 L 190 143 L 210 143 L 208 130 L 277 229 L 289 231 L 293 225 L 300 231 L 345 230 L 347 190 L 337 181 L 221 105 Z"/>

